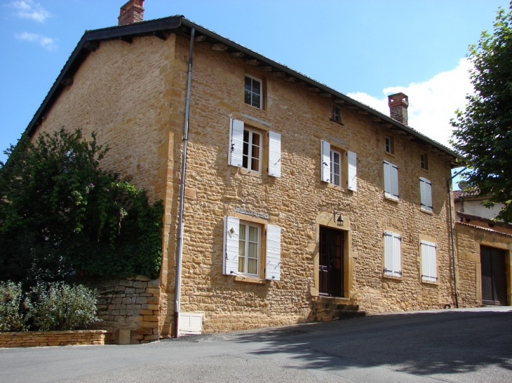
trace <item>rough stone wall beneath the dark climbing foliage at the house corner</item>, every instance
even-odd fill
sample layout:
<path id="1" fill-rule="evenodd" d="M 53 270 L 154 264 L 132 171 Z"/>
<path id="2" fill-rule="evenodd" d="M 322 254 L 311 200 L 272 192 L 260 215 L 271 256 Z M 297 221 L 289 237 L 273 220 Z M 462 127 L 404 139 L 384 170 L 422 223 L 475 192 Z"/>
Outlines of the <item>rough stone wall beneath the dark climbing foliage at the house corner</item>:
<path id="1" fill-rule="evenodd" d="M 84 281 L 98 291 L 93 328 L 107 330 L 107 344 L 139 344 L 159 339 L 160 281 L 135 278 Z"/>

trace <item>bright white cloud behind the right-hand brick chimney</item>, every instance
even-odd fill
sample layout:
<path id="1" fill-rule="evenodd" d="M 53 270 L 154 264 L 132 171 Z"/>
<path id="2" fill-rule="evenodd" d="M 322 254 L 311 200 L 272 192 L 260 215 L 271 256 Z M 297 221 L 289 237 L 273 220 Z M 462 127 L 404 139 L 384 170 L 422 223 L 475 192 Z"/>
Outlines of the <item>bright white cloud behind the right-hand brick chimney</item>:
<path id="1" fill-rule="evenodd" d="M 349 93 L 347 96 L 371 106 L 373 109 L 389 116 L 387 95 L 403 92 L 409 97 L 409 126 L 438 141 L 450 146 L 448 139 L 452 136 L 450 119 L 455 117 L 457 109 L 466 106 L 466 95 L 473 92 L 469 80 L 471 62 L 462 59 L 452 71 L 436 74 L 424 83 L 411 83 L 407 87 L 390 87 L 384 89 L 384 97 L 377 99 L 363 92 Z"/>

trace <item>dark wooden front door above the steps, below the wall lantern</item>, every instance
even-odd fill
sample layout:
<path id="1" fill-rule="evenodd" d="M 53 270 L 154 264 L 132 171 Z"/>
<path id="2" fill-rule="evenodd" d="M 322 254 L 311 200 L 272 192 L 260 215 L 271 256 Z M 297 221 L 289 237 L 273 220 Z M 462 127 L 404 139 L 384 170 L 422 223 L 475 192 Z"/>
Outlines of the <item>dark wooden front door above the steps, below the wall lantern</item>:
<path id="1" fill-rule="evenodd" d="M 343 237 L 341 230 L 320 228 L 321 295 L 343 297 Z"/>

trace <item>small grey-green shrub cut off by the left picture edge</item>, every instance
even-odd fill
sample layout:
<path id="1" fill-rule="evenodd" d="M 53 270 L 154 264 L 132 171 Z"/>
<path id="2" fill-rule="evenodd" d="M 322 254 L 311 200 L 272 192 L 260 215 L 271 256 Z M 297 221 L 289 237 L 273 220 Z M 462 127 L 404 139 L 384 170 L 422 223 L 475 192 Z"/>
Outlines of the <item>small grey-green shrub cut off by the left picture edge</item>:
<path id="1" fill-rule="evenodd" d="M 31 311 L 32 305 L 21 283 L 0 282 L 0 331 L 26 330 Z"/>

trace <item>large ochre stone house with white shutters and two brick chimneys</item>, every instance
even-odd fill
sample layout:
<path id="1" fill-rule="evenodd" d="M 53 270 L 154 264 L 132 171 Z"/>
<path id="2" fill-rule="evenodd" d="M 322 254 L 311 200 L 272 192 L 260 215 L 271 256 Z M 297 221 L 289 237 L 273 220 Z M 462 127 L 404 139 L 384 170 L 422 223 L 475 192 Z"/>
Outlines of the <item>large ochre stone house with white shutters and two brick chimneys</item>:
<path id="1" fill-rule="evenodd" d="M 177 313 L 211 333 L 454 304 L 457 155 L 406 95 L 385 116 L 142 3 L 83 35 L 27 127 L 97 132 L 103 166 L 164 201 L 159 279 L 97 282 L 112 342 L 175 335 Z"/>

